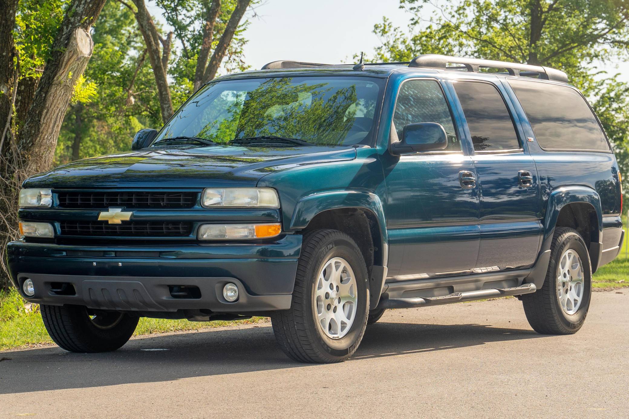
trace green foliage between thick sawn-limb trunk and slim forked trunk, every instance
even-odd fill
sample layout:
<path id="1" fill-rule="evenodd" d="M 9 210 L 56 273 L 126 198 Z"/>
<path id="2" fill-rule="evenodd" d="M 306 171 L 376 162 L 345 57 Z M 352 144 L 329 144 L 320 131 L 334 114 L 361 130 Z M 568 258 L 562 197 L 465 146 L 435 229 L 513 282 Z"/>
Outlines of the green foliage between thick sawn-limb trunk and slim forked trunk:
<path id="1" fill-rule="evenodd" d="M 136 131 L 161 123 L 153 73 L 148 59 L 142 59 L 144 44 L 133 13 L 118 2 L 107 2 L 92 39 L 94 53 L 84 89 L 74 96 L 84 91 L 90 94 L 84 94 L 87 100 L 81 103 L 73 100 L 67 112 L 55 150 L 57 164 L 129 150 Z M 79 155 L 73 157 L 76 141 Z"/>

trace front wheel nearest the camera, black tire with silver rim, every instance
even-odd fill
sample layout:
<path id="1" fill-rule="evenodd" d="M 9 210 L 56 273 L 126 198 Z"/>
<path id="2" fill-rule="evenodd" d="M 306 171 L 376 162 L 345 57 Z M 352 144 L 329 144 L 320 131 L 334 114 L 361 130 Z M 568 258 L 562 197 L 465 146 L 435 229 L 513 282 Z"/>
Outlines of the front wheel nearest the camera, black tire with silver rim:
<path id="1" fill-rule="evenodd" d="M 367 325 L 367 267 L 356 243 L 337 230 L 304 236 L 289 310 L 271 313 L 281 349 L 299 362 L 348 359 Z"/>

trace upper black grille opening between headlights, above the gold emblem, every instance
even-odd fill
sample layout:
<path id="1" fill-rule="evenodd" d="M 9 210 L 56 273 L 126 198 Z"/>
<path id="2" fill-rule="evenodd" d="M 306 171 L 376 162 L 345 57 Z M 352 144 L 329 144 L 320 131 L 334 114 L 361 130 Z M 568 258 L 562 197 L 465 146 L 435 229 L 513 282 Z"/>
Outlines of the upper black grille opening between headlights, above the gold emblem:
<path id="1" fill-rule="evenodd" d="M 128 209 L 143 208 L 192 208 L 196 204 L 196 192 L 158 191 L 95 191 L 59 192 L 61 208 L 98 208 L 121 206 Z"/>

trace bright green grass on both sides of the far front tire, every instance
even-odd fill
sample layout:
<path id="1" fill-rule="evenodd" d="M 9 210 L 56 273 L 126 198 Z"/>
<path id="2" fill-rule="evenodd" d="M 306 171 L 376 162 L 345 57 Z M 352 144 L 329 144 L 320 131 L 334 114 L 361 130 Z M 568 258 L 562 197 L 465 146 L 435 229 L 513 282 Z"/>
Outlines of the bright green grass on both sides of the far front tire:
<path id="1" fill-rule="evenodd" d="M 264 317 L 253 317 L 237 321 L 188 321 L 141 318 L 134 335 L 150 333 L 178 332 L 232 326 L 237 324 L 259 323 Z M 52 344 L 43 325 L 38 304 L 26 304 L 16 289 L 0 291 L 0 350 Z"/>

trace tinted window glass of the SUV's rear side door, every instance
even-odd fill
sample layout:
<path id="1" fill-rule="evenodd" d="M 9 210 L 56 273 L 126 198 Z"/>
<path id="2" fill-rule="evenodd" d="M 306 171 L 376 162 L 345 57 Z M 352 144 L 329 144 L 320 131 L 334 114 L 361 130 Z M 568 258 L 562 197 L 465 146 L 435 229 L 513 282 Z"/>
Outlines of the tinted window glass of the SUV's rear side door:
<path id="1" fill-rule="evenodd" d="M 515 125 L 504 99 L 490 83 L 454 83 L 476 152 L 519 150 Z"/>

